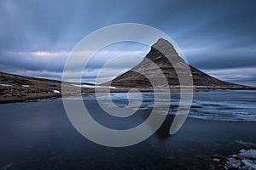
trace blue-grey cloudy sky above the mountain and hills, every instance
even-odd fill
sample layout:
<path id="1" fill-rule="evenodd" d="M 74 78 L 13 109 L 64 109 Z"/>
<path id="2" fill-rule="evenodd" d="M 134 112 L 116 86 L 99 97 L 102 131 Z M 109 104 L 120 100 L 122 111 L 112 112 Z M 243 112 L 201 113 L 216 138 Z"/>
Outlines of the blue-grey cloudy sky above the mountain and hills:
<path id="1" fill-rule="evenodd" d="M 119 23 L 140 23 L 164 31 L 189 65 L 221 80 L 256 86 L 256 1 L 183 0 L 0 0 L 0 71 L 61 79 L 68 54 L 91 32 Z M 84 71 L 94 82 L 104 61 L 138 54 L 104 71 L 131 69 L 150 47 L 113 44 L 96 54 Z"/>

